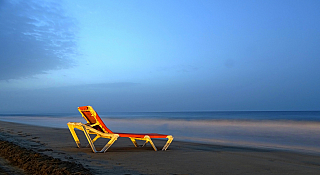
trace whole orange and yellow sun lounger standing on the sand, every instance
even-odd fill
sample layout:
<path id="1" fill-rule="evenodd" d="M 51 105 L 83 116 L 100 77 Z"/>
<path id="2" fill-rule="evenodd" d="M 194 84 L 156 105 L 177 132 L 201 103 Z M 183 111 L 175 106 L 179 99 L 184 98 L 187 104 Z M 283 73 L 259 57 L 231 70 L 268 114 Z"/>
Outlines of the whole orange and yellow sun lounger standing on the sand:
<path id="1" fill-rule="evenodd" d="M 84 132 L 89 145 L 92 148 L 93 152 L 106 152 L 108 148 L 118 139 L 118 137 L 127 137 L 129 138 L 135 147 L 139 147 L 136 140 L 144 140 L 145 146 L 147 143 L 150 143 L 151 146 L 155 151 L 157 151 L 156 146 L 152 142 L 151 139 L 153 138 L 166 138 L 168 139 L 167 143 L 163 146 L 162 151 L 167 150 L 169 145 L 171 144 L 173 137 L 171 135 L 163 135 L 163 134 L 156 134 L 156 133 L 148 133 L 148 134 L 132 134 L 132 133 L 114 133 L 112 132 L 107 126 L 103 123 L 99 115 L 93 110 L 91 106 L 82 106 L 78 107 L 79 112 L 82 114 L 82 117 L 86 119 L 87 123 L 83 124 L 81 122 L 69 122 L 68 127 L 69 130 L 77 144 L 80 148 L 80 141 L 75 132 L 75 128 L 79 129 Z M 91 138 L 90 134 L 95 135 L 94 139 Z M 102 138 L 110 139 L 109 142 L 101 149 L 101 151 L 97 151 L 94 142 Z"/>

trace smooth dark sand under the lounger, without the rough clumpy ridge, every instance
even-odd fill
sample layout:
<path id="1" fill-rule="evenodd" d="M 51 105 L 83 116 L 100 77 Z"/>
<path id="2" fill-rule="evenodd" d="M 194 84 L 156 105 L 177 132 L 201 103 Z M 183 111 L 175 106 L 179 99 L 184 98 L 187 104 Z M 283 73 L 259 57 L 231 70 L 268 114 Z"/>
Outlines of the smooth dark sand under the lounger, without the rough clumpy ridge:
<path id="1" fill-rule="evenodd" d="M 79 135 L 85 146 L 83 133 Z M 120 138 L 106 153 L 93 153 L 90 148 L 77 148 L 68 129 L 9 122 L 1 122 L 0 139 L 41 155 L 82 164 L 92 174 L 320 174 L 319 155 L 285 150 L 174 140 L 167 151 L 155 152 L 150 145 L 135 148 L 129 139 Z M 98 148 L 106 141 L 98 140 Z M 154 142 L 160 149 L 165 140 Z"/>

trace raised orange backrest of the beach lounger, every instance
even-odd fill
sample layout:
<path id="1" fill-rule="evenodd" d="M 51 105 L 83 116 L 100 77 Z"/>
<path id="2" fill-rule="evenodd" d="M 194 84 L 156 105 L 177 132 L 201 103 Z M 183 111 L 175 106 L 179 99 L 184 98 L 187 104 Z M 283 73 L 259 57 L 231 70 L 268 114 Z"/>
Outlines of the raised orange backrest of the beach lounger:
<path id="1" fill-rule="evenodd" d="M 98 113 L 91 106 L 78 107 L 79 112 L 92 127 L 104 133 L 113 133 L 101 120 Z"/>

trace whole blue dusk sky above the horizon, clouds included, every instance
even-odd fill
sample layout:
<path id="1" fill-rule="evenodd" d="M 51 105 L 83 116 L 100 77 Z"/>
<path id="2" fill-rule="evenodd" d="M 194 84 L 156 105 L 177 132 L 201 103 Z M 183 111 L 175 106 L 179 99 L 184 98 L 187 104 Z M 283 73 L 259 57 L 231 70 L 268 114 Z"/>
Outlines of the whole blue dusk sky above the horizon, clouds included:
<path id="1" fill-rule="evenodd" d="M 320 110 L 318 0 L 0 0 L 0 113 Z"/>

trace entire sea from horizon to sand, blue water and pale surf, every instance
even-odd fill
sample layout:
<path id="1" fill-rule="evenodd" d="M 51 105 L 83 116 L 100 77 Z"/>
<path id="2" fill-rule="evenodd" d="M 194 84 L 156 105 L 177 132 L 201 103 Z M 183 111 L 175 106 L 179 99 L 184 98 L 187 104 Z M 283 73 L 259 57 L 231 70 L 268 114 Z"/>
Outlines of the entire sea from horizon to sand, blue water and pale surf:
<path id="1" fill-rule="evenodd" d="M 320 155 L 320 111 L 101 112 L 113 132 L 161 133 L 176 141 Z M 1 121 L 68 128 L 81 114 L 0 114 Z"/>

